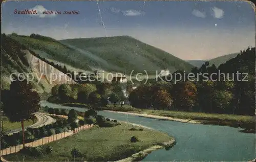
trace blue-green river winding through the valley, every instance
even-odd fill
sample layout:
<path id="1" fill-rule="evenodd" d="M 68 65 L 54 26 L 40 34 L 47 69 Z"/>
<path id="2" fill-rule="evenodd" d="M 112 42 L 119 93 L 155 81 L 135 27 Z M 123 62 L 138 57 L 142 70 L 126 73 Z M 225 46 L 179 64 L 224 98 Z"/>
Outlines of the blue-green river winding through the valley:
<path id="1" fill-rule="evenodd" d="M 41 101 L 41 106 L 86 111 L 47 101 Z M 156 150 L 142 161 L 248 161 L 255 158 L 255 134 L 239 132 L 240 128 L 164 121 L 106 111 L 98 111 L 98 114 L 151 127 L 175 137 L 177 144 L 172 149 Z"/>

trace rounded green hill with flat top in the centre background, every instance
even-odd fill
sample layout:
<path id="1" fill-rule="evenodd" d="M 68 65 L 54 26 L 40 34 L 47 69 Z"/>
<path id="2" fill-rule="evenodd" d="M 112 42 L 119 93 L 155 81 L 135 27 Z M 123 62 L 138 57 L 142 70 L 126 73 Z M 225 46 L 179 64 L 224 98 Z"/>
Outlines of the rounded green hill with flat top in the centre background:
<path id="1" fill-rule="evenodd" d="M 60 40 L 65 45 L 72 45 L 76 50 L 87 51 L 94 60 L 99 60 L 100 68 L 108 71 L 142 72 L 149 74 L 167 68 L 190 71 L 193 65 L 151 45 L 129 36 L 79 38 Z M 109 66 L 104 66 L 107 62 Z"/>

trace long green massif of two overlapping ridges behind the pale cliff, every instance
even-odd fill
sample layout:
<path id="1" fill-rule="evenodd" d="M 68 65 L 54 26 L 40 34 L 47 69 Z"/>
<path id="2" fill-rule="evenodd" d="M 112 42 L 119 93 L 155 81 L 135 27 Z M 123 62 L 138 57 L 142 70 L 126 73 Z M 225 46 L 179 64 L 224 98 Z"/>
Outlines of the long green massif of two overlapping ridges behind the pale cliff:
<path id="1" fill-rule="evenodd" d="M 32 34 L 12 35 L 13 39 L 40 57 L 64 63 L 77 70 L 108 72 L 143 72 L 156 74 L 168 69 L 190 71 L 193 65 L 129 36 L 54 40 Z"/>

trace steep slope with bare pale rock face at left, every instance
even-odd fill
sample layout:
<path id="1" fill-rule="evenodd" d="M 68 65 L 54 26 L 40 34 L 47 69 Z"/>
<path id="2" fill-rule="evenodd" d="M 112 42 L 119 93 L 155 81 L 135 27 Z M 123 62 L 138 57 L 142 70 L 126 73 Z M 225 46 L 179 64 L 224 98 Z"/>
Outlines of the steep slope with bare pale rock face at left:
<path id="1" fill-rule="evenodd" d="M 33 53 L 30 53 L 24 45 L 21 45 L 11 37 L 2 34 L 1 39 L 2 89 L 9 88 L 11 83 L 10 76 L 12 74 L 22 74 L 26 79 L 31 80 L 33 88 L 38 92 L 49 92 L 51 87 L 55 84 L 75 83 L 74 81 L 67 82 L 63 80 L 64 77 L 68 79 L 69 77 L 65 76 L 44 60 L 37 58 Z M 53 77 L 55 76 L 58 78 L 53 82 Z"/>

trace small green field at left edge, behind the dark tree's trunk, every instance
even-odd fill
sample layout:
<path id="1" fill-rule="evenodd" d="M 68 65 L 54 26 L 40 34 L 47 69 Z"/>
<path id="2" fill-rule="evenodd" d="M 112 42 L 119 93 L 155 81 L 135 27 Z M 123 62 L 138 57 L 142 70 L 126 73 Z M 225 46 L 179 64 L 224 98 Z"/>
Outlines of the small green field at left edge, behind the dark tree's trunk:
<path id="1" fill-rule="evenodd" d="M 10 131 L 10 130 L 13 130 L 13 129 L 17 129 L 17 128 L 22 128 L 22 123 L 20 122 L 10 122 L 9 119 L 5 116 L 1 116 L 1 120 L 3 120 L 3 131 Z M 33 121 L 32 120 L 28 120 L 28 121 L 25 121 L 24 122 L 24 126 L 27 127 L 27 126 L 30 126 L 33 124 Z M 2 122 L 1 122 L 1 125 L 2 125 Z"/>

